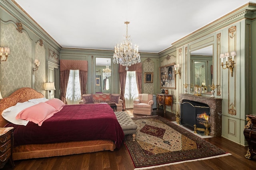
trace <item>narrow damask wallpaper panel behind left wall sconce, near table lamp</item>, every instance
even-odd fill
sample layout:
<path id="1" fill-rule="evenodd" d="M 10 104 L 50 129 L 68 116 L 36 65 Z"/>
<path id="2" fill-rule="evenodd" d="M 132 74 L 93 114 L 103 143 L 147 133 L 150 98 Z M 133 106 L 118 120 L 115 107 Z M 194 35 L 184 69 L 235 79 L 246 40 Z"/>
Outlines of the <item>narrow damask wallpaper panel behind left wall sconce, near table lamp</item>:
<path id="1" fill-rule="evenodd" d="M 45 59 L 45 48 L 44 45 L 40 45 L 40 41 L 36 43 L 36 50 L 35 50 L 35 59 L 40 61 L 40 66 L 37 71 L 34 72 L 35 75 L 35 90 L 42 93 L 45 96 L 44 90 L 44 82 L 45 82 L 45 68 L 46 68 L 46 59 Z"/>

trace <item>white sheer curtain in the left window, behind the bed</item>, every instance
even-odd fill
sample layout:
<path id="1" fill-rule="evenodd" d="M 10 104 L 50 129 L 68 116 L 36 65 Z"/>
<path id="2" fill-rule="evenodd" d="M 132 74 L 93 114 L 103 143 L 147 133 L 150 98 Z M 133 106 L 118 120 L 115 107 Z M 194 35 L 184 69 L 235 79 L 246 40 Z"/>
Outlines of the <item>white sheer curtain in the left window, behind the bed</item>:
<path id="1" fill-rule="evenodd" d="M 79 70 L 70 70 L 66 100 L 68 104 L 79 104 L 79 101 L 81 100 Z"/>

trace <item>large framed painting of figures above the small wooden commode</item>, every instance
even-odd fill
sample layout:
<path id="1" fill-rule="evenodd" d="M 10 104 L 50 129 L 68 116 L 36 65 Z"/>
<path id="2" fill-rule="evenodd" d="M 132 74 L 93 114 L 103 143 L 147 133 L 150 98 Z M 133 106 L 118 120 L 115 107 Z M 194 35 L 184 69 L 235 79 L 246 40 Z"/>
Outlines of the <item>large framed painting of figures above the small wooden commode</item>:
<path id="1" fill-rule="evenodd" d="M 174 64 L 159 67 L 160 88 L 176 89 L 176 74 Z"/>

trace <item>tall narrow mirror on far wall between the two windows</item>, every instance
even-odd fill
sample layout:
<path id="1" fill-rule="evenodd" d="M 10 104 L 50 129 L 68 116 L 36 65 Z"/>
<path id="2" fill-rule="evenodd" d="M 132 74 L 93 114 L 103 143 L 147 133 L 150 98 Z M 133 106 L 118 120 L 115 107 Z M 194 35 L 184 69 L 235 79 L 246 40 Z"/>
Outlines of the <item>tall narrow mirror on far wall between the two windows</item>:
<path id="1" fill-rule="evenodd" d="M 111 59 L 110 58 L 98 58 L 96 57 L 96 93 L 110 93 L 111 86 L 111 73 L 105 74 L 103 69 L 106 69 L 106 66 L 111 69 Z"/>

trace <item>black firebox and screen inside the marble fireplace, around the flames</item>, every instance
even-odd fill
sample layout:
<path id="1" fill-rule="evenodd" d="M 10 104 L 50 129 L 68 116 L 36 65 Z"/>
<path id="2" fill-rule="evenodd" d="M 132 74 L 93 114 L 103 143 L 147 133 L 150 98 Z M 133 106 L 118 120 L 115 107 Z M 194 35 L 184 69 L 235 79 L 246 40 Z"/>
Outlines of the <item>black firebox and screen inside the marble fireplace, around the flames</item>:
<path id="1" fill-rule="evenodd" d="M 194 131 L 194 125 L 198 128 L 204 128 L 204 125 L 200 124 L 196 119 L 198 114 L 206 113 L 210 116 L 210 107 L 207 104 L 194 102 L 190 100 L 183 100 L 180 104 L 180 123 Z M 210 121 L 210 120 L 209 120 Z"/>

